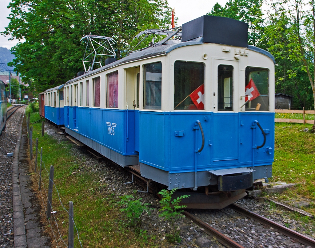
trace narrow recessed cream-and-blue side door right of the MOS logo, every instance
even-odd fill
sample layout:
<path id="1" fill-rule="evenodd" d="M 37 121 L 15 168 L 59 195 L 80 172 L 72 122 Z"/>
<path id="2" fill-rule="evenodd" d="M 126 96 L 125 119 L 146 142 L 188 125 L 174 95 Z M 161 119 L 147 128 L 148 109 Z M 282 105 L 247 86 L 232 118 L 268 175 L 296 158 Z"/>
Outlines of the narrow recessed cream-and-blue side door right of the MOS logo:
<path id="1" fill-rule="evenodd" d="M 135 68 L 135 100 L 133 106 L 135 108 L 135 151 L 139 152 L 140 142 L 140 67 Z"/>

